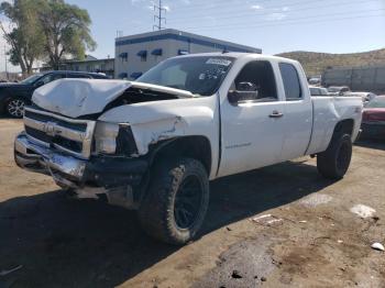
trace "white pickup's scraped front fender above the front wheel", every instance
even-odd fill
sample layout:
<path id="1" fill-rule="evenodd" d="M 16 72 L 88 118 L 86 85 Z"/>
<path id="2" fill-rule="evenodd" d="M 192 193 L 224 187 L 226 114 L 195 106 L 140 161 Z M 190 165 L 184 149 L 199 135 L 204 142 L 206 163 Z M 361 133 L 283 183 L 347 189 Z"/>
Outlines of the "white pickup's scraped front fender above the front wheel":
<path id="1" fill-rule="evenodd" d="M 99 120 L 129 123 L 139 155 L 145 155 L 150 145 L 173 137 L 202 135 L 211 141 L 217 128 L 213 110 L 195 100 L 121 106 L 107 111 Z M 186 101 L 188 106 L 184 104 Z"/>

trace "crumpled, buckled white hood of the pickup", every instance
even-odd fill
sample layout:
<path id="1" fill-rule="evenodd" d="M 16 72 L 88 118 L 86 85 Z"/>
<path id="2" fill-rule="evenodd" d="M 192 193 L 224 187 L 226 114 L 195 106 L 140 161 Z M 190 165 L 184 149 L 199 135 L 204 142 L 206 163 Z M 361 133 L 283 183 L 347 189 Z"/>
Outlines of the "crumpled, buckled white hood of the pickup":
<path id="1" fill-rule="evenodd" d="M 78 118 L 100 113 L 128 88 L 136 87 L 160 92 L 194 97 L 190 92 L 150 84 L 109 79 L 59 79 L 36 89 L 32 101 L 51 112 Z"/>

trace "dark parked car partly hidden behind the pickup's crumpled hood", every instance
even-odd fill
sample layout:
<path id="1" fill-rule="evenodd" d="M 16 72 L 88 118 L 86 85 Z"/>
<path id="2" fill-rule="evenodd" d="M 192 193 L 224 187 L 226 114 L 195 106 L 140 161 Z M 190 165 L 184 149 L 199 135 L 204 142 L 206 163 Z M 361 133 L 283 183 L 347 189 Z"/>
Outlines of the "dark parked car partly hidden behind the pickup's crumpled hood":
<path id="1" fill-rule="evenodd" d="M 0 84 L 0 114 L 22 118 L 24 104 L 30 104 L 33 91 L 61 78 L 108 79 L 107 76 L 97 73 L 46 71 L 32 75 L 18 84 Z"/>

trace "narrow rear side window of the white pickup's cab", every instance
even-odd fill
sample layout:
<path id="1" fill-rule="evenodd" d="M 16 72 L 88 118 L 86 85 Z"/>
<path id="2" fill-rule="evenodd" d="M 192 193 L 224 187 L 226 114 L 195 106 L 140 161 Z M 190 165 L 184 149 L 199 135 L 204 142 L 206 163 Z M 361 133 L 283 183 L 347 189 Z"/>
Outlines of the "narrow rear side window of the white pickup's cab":
<path id="1" fill-rule="evenodd" d="M 279 70 L 284 81 L 286 101 L 301 99 L 302 91 L 296 67 L 292 64 L 279 63 Z"/>

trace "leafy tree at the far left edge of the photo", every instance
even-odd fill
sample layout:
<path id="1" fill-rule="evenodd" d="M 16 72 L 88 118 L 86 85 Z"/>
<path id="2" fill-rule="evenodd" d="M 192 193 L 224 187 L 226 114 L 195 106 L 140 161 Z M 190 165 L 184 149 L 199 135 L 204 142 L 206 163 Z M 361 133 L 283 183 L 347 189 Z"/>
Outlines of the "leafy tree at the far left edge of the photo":
<path id="1" fill-rule="evenodd" d="M 20 65 L 23 75 L 32 74 L 33 64 L 43 56 L 44 34 L 37 19 L 38 4 L 35 0 L 1 2 L 0 29 L 10 45 L 10 62 Z M 8 24 L 6 24 L 8 23 Z"/>

